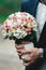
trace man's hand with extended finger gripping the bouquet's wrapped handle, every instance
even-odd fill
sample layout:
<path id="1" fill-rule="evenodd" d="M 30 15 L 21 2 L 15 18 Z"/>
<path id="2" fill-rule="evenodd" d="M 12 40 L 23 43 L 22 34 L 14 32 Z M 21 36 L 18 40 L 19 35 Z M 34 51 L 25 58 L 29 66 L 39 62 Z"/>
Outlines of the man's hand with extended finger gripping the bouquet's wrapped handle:
<path id="1" fill-rule="evenodd" d="M 36 59 L 39 59 L 41 57 L 41 52 L 40 48 L 37 47 L 33 47 L 31 50 L 25 50 L 25 48 L 17 48 L 18 55 L 22 55 L 22 54 L 29 54 L 27 58 L 24 58 L 24 66 L 29 66 L 31 64 L 34 64 L 36 61 Z"/>

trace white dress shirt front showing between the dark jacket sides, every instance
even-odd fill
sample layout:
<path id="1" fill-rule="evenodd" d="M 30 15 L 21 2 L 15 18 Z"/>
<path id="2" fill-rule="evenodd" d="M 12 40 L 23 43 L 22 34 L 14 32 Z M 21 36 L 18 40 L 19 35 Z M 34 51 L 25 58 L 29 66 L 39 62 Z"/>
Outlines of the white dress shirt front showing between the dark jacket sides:
<path id="1" fill-rule="evenodd" d="M 39 29 L 36 32 L 36 38 L 39 41 L 41 32 L 42 32 L 43 27 L 44 27 L 45 22 L 46 22 L 46 5 L 41 3 L 41 2 L 39 3 L 37 10 L 36 10 L 36 22 L 39 24 Z"/>

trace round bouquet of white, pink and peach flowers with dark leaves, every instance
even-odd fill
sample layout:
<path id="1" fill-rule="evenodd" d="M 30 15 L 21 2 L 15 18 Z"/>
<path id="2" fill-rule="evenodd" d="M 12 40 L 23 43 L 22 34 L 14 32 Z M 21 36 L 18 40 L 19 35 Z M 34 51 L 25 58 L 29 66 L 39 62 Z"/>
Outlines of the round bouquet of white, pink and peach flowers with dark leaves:
<path id="1" fill-rule="evenodd" d="M 14 40 L 16 44 L 21 44 L 22 41 L 35 42 L 35 18 L 26 12 L 11 14 L 2 25 L 4 39 Z"/>

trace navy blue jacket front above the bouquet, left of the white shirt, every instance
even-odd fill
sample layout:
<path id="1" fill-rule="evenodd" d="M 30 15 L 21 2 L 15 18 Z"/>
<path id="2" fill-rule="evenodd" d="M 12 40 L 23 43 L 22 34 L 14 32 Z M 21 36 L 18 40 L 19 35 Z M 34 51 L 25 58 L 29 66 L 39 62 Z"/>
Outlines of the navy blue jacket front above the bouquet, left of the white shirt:
<path id="1" fill-rule="evenodd" d="M 39 0 L 25 0 L 21 3 L 21 12 L 28 12 L 35 17 Z"/>

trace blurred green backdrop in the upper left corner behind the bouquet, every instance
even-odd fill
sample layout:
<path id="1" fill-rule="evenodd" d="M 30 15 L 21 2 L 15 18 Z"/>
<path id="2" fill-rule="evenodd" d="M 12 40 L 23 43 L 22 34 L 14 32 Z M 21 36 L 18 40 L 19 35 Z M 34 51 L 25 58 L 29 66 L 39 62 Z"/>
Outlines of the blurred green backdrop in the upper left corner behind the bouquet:
<path id="1" fill-rule="evenodd" d="M 0 0 L 0 23 L 3 23 L 6 17 L 20 11 L 21 0 Z"/>

